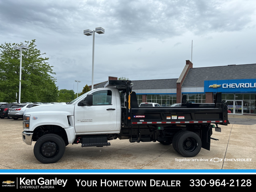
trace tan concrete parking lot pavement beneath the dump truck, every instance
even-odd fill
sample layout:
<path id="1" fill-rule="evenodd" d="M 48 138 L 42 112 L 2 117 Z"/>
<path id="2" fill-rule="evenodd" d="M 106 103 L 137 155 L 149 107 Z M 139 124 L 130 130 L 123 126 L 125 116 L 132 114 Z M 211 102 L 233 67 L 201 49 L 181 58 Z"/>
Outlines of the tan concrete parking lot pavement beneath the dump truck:
<path id="1" fill-rule="evenodd" d="M 42 164 L 33 145 L 22 141 L 22 120 L 0 119 L 0 170 L 254 170 L 256 168 L 256 116 L 229 116 L 230 124 L 213 131 L 210 151 L 201 149 L 184 158 L 172 145 L 111 140 L 110 146 L 66 146 L 62 159 Z"/>

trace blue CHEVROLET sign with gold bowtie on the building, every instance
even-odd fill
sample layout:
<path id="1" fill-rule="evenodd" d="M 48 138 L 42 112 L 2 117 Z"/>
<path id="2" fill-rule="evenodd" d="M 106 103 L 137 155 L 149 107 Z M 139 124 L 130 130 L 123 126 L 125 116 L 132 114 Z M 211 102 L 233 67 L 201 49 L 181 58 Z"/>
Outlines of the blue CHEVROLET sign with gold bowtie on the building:
<path id="1" fill-rule="evenodd" d="M 256 79 L 204 81 L 204 92 L 256 92 Z"/>

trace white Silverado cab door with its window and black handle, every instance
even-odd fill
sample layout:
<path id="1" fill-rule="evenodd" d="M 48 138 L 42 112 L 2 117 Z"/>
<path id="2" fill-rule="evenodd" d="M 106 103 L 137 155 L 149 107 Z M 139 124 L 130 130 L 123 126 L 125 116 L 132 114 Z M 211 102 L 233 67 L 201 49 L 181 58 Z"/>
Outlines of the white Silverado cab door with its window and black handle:
<path id="1" fill-rule="evenodd" d="M 92 92 L 92 106 L 78 106 L 74 112 L 75 130 L 78 134 L 111 133 L 117 130 L 116 92 Z"/>

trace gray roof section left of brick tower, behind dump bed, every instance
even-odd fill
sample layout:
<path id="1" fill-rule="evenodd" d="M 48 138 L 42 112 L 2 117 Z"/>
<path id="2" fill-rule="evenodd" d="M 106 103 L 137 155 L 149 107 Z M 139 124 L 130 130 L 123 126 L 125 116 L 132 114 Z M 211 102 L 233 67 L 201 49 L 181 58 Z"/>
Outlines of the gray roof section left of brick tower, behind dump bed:
<path id="1" fill-rule="evenodd" d="M 177 79 L 153 79 L 132 81 L 132 89 L 176 89 Z"/>

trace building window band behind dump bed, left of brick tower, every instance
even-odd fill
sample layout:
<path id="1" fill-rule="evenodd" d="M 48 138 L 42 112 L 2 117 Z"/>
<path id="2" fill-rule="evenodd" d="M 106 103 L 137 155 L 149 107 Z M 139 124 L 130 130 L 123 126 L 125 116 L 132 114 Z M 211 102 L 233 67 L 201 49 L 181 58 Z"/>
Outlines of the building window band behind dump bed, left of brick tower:
<path id="1" fill-rule="evenodd" d="M 148 103 L 158 103 L 162 107 L 168 107 L 176 103 L 176 94 L 148 94 L 147 102 Z"/>

